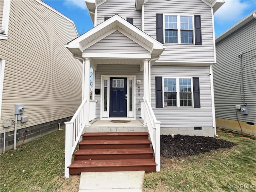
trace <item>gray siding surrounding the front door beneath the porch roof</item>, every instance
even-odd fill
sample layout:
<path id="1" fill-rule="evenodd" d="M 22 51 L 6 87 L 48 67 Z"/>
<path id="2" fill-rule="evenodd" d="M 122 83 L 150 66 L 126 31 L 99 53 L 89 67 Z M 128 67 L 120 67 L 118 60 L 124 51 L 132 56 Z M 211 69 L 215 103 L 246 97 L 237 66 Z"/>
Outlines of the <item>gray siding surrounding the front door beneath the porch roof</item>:
<path id="1" fill-rule="evenodd" d="M 100 89 L 101 75 L 135 75 L 137 80 L 141 81 L 140 85 L 136 84 L 136 109 L 140 107 L 139 100 L 143 100 L 143 72 L 140 72 L 139 65 L 111 65 L 111 64 L 98 64 L 95 72 L 95 88 Z M 140 86 L 140 96 L 138 96 L 138 86 Z M 103 90 L 101 91 L 102 94 Z M 96 116 L 100 118 L 100 95 L 95 95 L 96 103 Z M 136 110 L 136 119 L 141 116 L 140 111 Z"/>

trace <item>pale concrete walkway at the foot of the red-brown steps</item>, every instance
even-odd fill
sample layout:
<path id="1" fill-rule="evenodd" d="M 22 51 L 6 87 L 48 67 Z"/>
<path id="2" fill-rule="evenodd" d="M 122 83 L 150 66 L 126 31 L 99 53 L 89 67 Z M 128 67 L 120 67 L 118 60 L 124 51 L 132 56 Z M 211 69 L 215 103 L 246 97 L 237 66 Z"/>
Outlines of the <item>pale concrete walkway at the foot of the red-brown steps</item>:
<path id="1" fill-rule="evenodd" d="M 142 192 L 145 171 L 81 173 L 78 192 Z"/>

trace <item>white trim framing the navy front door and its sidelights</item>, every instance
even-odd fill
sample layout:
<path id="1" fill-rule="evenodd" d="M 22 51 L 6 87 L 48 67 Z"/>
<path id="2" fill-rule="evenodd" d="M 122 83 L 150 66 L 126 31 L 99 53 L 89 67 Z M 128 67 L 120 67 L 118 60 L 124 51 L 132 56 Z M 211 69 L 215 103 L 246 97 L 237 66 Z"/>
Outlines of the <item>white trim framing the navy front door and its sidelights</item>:
<path id="1" fill-rule="evenodd" d="M 101 75 L 101 93 L 100 93 L 100 119 L 109 118 L 109 100 L 110 100 L 110 77 L 124 77 L 127 78 L 127 117 L 125 118 L 136 118 L 136 86 L 135 79 L 136 76 L 133 75 Z M 108 95 L 107 95 L 107 111 L 104 111 L 104 80 L 108 80 Z M 133 110 L 130 112 L 130 89 L 129 89 L 129 80 L 133 81 L 132 91 L 133 91 Z M 116 118 L 114 118 L 116 119 Z M 120 118 L 122 119 L 122 118 Z"/>

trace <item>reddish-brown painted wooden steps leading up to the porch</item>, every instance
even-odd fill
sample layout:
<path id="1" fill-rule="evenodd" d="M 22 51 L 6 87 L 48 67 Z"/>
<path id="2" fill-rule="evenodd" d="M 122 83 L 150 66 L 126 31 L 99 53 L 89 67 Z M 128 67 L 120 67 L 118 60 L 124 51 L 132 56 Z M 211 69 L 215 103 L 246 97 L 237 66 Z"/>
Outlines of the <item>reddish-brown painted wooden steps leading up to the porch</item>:
<path id="1" fill-rule="evenodd" d="M 156 172 L 148 132 L 84 133 L 68 166 L 70 174 L 103 171 Z"/>

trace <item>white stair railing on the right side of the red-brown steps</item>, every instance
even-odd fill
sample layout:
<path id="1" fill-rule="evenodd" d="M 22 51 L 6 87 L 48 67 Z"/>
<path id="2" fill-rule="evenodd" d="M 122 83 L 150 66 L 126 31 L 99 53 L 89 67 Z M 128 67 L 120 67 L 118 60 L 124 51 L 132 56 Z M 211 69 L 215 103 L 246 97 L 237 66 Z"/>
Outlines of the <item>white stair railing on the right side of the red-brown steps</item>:
<path id="1" fill-rule="evenodd" d="M 157 163 L 156 171 L 160 171 L 160 121 L 156 120 L 156 116 L 152 110 L 150 102 L 143 97 L 141 108 L 143 108 L 142 118 L 147 124 L 148 133 L 152 142 L 153 150 L 155 153 L 155 162 Z"/>

